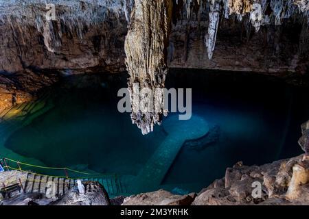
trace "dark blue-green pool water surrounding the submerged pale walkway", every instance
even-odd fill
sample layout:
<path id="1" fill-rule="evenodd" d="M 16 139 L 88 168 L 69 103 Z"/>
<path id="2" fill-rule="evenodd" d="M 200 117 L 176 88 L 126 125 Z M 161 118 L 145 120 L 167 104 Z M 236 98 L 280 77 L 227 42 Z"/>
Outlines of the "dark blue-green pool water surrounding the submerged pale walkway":
<path id="1" fill-rule="evenodd" d="M 207 121 L 209 133 L 198 144 L 183 144 L 159 188 L 198 192 L 236 162 L 265 164 L 302 152 L 297 140 L 309 118 L 308 88 L 263 75 L 179 69 L 170 71 L 166 84 L 192 88 L 193 115 Z M 64 77 L 43 91 L 52 102 L 43 114 L 11 133 L 0 123 L 0 150 L 45 166 L 117 173 L 128 194 L 137 192 L 135 177 L 168 133 L 163 122 L 142 136 L 130 114 L 117 111 L 123 87 L 126 74 Z"/>

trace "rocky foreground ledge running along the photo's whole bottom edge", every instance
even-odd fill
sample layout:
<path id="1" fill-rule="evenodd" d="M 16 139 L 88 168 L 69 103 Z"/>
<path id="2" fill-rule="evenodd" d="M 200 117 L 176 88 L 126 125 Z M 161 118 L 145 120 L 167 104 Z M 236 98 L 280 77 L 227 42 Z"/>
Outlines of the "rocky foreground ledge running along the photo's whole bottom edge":
<path id="1" fill-rule="evenodd" d="M 19 172 L 9 177 L 18 178 Z M 5 180 L 7 179 L 1 179 Z M 198 194 L 177 195 L 164 190 L 110 199 L 98 182 L 74 186 L 58 200 L 43 194 L 16 194 L 2 205 L 309 205 L 309 156 L 265 164 L 227 168 L 225 177 Z"/>

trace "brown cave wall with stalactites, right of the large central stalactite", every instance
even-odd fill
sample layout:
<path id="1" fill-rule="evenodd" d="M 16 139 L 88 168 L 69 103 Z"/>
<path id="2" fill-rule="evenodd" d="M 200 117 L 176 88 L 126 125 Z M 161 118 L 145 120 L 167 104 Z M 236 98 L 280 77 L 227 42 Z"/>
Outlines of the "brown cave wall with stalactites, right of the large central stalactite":
<path id="1" fill-rule="evenodd" d="M 189 2 L 172 30 L 170 67 L 308 72 L 308 2 Z"/>

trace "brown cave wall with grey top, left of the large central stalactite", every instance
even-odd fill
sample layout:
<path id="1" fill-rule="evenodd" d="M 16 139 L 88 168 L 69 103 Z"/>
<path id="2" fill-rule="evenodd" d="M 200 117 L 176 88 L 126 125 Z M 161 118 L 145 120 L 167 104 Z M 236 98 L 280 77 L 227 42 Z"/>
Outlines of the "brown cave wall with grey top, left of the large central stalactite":
<path id="1" fill-rule="evenodd" d="M 125 70 L 127 22 L 122 0 L 48 3 L 0 1 L 0 71 Z"/>

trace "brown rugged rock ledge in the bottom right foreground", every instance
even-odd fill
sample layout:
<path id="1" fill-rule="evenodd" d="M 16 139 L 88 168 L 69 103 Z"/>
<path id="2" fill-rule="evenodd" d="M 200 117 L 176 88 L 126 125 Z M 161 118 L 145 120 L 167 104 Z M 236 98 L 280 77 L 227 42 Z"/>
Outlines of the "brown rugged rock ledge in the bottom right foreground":
<path id="1" fill-rule="evenodd" d="M 159 190 L 127 197 L 122 205 L 309 205 L 309 157 L 263 166 L 240 162 L 198 194 Z"/>

